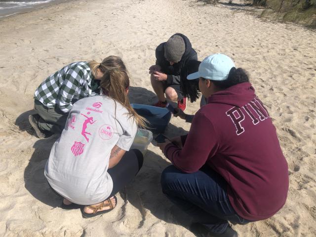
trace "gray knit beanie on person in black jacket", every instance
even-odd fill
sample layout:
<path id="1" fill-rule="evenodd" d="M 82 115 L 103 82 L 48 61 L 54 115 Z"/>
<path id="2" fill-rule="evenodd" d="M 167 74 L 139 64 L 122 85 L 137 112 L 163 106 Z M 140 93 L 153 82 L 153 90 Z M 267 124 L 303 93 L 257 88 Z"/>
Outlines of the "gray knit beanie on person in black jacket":
<path id="1" fill-rule="evenodd" d="M 181 60 L 186 50 L 186 45 L 181 36 L 175 35 L 164 44 L 164 57 L 169 62 L 177 63 Z"/>

